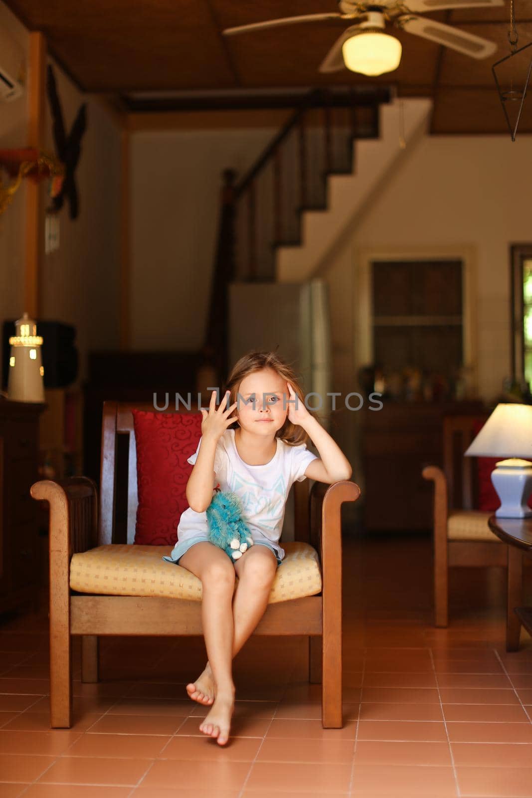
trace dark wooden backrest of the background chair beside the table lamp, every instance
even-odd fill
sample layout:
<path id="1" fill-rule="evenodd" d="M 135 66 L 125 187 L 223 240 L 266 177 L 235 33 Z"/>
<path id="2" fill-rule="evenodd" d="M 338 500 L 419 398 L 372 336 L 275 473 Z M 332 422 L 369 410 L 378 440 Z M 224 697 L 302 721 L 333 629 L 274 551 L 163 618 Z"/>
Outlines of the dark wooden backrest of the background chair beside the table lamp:
<path id="1" fill-rule="evenodd" d="M 474 510 L 479 506 L 477 458 L 464 457 L 463 452 L 477 435 L 475 425 L 487 421 L 489 415 L 443 417 L 443 473 L 450 510 Z"/>

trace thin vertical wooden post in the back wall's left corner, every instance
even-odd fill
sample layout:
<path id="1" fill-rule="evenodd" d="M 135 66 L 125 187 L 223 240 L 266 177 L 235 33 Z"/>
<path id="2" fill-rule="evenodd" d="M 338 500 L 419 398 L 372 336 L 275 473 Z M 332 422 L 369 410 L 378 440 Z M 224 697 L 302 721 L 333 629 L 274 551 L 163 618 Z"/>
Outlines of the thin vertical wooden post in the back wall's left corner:
<path id="1" fill-rule="evenodd" d="M 120 133 L 120 349 L 131 346 L 131 246 L 129 241 L 130 133 Z"/>

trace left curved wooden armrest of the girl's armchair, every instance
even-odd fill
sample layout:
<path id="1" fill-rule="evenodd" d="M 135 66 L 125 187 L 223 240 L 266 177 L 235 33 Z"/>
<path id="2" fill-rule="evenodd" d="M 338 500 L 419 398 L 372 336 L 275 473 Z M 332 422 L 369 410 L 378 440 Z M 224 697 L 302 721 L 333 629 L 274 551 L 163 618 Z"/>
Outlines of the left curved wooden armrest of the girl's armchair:
<path id="1" fill-rule="evenodd" d="M 50 574 L 53 561 L 70 563 L 73 554 L 97 546 L 98 494 L 88 476 L 33 483 L 30 494 L 49 503 Z"/>

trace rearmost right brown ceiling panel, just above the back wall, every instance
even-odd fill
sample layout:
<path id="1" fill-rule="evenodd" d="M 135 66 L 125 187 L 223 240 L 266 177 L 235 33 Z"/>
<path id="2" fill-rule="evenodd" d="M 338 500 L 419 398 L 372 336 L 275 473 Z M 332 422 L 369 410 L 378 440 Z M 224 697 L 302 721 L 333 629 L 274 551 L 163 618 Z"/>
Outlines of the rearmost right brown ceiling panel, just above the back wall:
<path id="1" fill-rule="evenodd" d="M 432 114 L 432 133 L 503 133 L 510 140 L 495 89 L 440 89 Z M 532 103 L 523 106 L 519 133 L 532 132 Z M 511 142 L 510 142 L 511 143 Z"/>

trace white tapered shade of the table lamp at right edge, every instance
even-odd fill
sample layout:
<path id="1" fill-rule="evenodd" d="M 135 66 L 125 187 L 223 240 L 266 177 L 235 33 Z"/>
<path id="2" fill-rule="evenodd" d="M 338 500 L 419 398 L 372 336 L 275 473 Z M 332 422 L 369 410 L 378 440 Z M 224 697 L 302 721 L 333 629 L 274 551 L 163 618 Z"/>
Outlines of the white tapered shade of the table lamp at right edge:
<path id="1" fill-rule="evenodd" d="M 464 454 L 532 460 L 532 405 L 497 405 Z"/>

